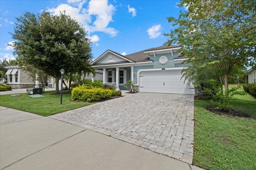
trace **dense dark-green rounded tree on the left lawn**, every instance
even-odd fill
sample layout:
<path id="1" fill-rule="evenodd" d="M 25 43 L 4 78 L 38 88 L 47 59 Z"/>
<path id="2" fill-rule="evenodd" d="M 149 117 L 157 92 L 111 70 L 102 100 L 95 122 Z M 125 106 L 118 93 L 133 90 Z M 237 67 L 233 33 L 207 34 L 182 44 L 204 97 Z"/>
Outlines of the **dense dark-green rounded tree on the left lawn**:
<path id="1" fill-rule="evenodd" d="M 60 70 L 66 74 L 79 72 L 92 58 L 86 31 L 66 13 L 26 12 L 17 21 L 12 37 L 19 64 L 33 66 L 55 78 L 57 93 Z"/>

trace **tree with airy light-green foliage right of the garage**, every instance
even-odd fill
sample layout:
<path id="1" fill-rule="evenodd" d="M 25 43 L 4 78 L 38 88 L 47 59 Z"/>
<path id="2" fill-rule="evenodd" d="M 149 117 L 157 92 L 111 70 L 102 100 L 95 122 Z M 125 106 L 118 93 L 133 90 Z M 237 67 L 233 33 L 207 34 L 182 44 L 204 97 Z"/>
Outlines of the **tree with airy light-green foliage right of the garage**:
<path id="1" fill-rule="evenodd" d="M 225 84 L 222 91 L 228 98 L 228 79 L 246 66 L 255 65 L 255 2 L 182 0 L 180 6 L 188 7 L 188 11 L 180 11 L 178 18 L 168 18 L 175 29 L 165 34 L 170 37 L 166 44 L 182 46 L 181 52 L 188 57 L 186 62 L 191 63 L 185 72 L 202 66 L 207 66 L 201 69 L 205 73 L 213 71 L 214 79 Z M 193 79 L 195 74 L 187 75 Z"/>

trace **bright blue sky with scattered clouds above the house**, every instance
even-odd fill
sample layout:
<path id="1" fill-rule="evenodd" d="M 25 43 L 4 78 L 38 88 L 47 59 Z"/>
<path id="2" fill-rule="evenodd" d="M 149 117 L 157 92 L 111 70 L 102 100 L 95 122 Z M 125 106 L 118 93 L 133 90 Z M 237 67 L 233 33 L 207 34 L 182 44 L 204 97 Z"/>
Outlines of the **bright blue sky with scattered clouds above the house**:
<path id="1" fill-rule="evenodd" d="M 13 49 L 6 44 L 14 41 L 15 18 L 23 12 L 40 13 L 48 10 L 58 14 L 65 10 L 89 32 L 93 57 L 107 49 L 130 54 L 143 49 L 161 46 L 167 40 L 163 33 L 170 32 L 168 16 L 179 16 L 183 7 L 179 1 L 0 1 L 0 59 L 13 58 Z"/>

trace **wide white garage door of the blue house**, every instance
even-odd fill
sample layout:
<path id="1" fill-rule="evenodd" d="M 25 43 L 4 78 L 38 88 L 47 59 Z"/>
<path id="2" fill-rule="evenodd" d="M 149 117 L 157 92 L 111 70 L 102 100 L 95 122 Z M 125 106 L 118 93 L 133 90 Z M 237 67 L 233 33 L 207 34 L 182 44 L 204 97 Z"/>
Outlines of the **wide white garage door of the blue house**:
<path id="1" fill-rule="evenodd" d="M 167 94 L 195 94 L 192 84 L 184 83 L 181 70 L 161 70 L 140 72 L 139 90 Z"/>

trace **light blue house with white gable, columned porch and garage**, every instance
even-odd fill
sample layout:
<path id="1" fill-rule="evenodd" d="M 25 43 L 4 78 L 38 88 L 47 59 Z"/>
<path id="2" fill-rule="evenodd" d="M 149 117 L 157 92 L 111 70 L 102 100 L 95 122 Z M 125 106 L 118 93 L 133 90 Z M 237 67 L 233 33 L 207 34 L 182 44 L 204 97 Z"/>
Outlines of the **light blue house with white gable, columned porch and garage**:
<path id="1" fill-rule="evenodd" d="M 160 46 L 125 56 L 106 50 L 91 64 L 103 71 L 103 83 L 115 84 L 117 90 L 131 80 L 140 92 L 194 95 L 193 84 L 181 79 L 188 64 L 182 64 L 186 57 L 179 55 L 180 48 Z"/>

